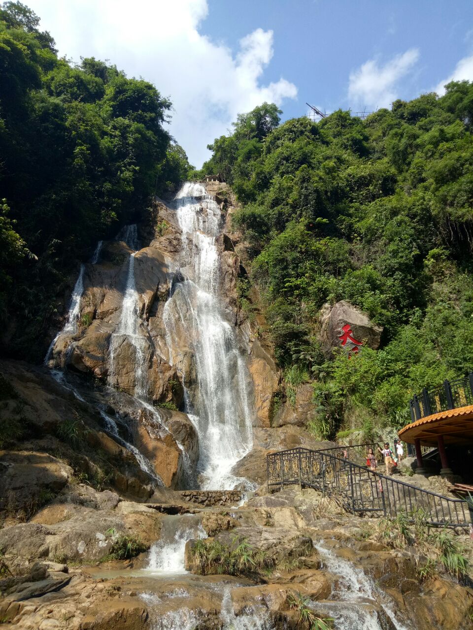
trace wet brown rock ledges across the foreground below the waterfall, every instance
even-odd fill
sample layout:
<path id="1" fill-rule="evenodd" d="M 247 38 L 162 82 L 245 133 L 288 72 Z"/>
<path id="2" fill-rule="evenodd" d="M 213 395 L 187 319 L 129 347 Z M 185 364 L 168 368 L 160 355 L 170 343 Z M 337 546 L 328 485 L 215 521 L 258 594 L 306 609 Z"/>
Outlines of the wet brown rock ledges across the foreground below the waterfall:
<path id="1" fill-rule="evenodd" d="M 168 498 L 179 494 L 168 491 Z M 237 537 L 274 559 L 264 577 L 249 571 L 250 578 L 244 568 L 237 576 L 153 575 L 146 569 L 146 554 L 83 568 L 38 558 L 44 541 L 59 535 L 57 527 L 41 523 L 54 520 L 51 510 L 56 504 L 47 506 L 35 522 L 0 530 L 0 547 L 9 567 L 9 575 L 0 579 L 1 618 L 28 630 L 112 626 L 141 630 L 155 624 L 172 629 L 229 629 L 242 624 L 277 630 L 298 627 L 293 602 L 303 597 L 314 614 L 332 616 L 336 628 L 347 630 L 472 627 L 472 590 L 440 576 L 419 581 L 411 551 L 395 551 L 363 538 L 363 519 L 342 510 L 329 518 L 321 516 L 321 500 L 315 491 L 284 490 L 255 496 L 231 515 L 224 507 L 196 503 L 197 515 L 192 518 L 199 519 L 212 537 L 209 541 L 231 545 Z M 149 542 L 161 536 L 160 513 L 120 500 L 110 491 L 96 493 L 80 486 L 62 505 L 71 510 L 71 519 L 74 512 L 81 515 L 83 531 L 93 512 L 96 524 L 104 527 L 112 522 L 130 533 L 141 532 Z M 172 518 L 178 527 L 182 517 Z M 26 544 L 27 540 L 32 542 Z M 191 552 L 192 544 L 186 547 L 187 568 L 197 571 Z M 169 553 L 174 553 L 171 547 Z M 13 561 L 14 556 L 21 561 Z M 182 563 L 184 571 L 184 555 Z M 61 626 L 66 618 L 67 625 Z"/>

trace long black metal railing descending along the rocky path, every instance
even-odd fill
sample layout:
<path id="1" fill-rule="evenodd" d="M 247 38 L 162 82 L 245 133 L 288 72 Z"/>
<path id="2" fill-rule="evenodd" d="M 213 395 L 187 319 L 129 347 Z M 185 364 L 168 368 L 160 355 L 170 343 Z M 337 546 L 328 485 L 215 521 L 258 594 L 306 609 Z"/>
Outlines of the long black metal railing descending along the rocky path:
<path id="1" fill-rule="evenodd" d="M 366 448 L 366 445 L 358 446 Z M 330 450 L 339 449 L 310 450 L 298 447 L 268 454 L 268 486 L 284 488 L 285 485 L 298 484 L 327 495 L 335 494 L 344 507 L 353 513 L 371 512 L 395 517 L 400 512 L 412 513 L 417 508 L 423 508 L 430 525 L 470 526 L 472 518 L 466 501 L 375 473 L 367 466 L 328 452 Z"/>

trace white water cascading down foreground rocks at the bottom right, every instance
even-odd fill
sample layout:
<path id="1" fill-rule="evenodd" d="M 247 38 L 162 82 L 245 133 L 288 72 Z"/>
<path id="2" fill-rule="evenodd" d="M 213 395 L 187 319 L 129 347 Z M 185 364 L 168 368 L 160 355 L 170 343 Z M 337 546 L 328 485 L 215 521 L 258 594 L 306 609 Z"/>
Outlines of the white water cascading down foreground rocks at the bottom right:
<path id="1" fill-rule="evenodd" d="M 327 614 L 334 619 L 336 630 L 383 630 L 376 610 L 367 605 L 366 600 L 380 604 L 396 630 L 409 630 L 404 622 L 397 619 L 393 602 L 365 575 L 363 569 L 337 556 L 322 541 L 314 541 L 314 547 L 330 573 L 338 578 L 337 588 L 332 592 L 334 601 L 324 602 Z"/>

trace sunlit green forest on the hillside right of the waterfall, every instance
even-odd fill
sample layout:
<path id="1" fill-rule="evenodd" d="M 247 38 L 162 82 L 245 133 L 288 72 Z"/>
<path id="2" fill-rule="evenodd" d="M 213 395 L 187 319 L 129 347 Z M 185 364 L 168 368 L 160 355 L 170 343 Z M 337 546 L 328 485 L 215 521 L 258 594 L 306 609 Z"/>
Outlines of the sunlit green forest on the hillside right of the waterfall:
<path id="1" fill-rule="evenodd" d="M 201 173 L 240 201 L 241 301 L 251 315 L 259 289 L 286 392 L 313 382 L 320 437 L 369 437 L 405 423 L 413 392 L 473 369 L 473 84 L 365 120 L 280 115 L 267 103 L 240 115 Z M 341 299 L 384 326 L 382 346 L 327 362 L 318 312 Z"/>

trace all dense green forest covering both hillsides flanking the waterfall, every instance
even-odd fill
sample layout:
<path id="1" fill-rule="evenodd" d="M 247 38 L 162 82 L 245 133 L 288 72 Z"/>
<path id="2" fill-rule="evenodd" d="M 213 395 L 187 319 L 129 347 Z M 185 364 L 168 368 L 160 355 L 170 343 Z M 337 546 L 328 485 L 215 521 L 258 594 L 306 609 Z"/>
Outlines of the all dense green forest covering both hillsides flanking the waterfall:
<path id="1" fill-rule="evenodd" d="M 313 383 L 316 435 L 399 426 L 412 392 L 473 370 L 473 84 L 365 120 L 339 110 L 281 124 L 264 103 L 193 171 L 165 129 L 168 98 L 100 60 L 59 58 L 38 25 L 25 5 L 0 4 L 4 353 L 40 360 L 96 241 L 143 218 L 153 194 L 218 172 L 240 202 L 240 304 L 251 318 L 257 295 L 264 309 L 281 399 Z M 379 350 L 324 358 L 320 307 L 341 299 L 384 327 Z"/>

